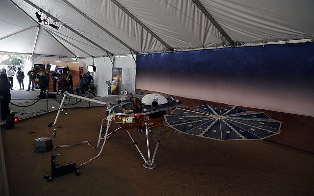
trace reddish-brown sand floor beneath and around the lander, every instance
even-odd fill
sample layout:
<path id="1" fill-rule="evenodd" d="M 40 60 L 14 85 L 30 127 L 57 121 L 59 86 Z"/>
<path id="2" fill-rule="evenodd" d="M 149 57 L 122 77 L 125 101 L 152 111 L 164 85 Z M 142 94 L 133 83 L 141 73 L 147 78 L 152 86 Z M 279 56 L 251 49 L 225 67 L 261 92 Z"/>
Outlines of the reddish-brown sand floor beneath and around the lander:
<path id="1" fill-rule="evenodd" d="M 208 101 L 183 99 L 184 105 Z M 218 105 L 218 104 L 216 104 Z M 246 108 L 248 109 L 248 108 Z M 250 109 L 257 111 L 256 109 Z M 259 110 L 260 111 L 260 110 Z M 99 150 L 86 144 L 36 153 L 34 140 L 51 137 L 47 128 L 56 113 L 20 122 L 3 130 L 3 146 L 11 196 L 311 196 L 314 195 L 314 147 L 312 117 L 264 111 L 283 122 L 282 132 L 268 141 L 215 141 L 175 133 L 165 128 L 157 152 L 157 168 L 143 168 L 143 160 L 125 130 L 106 142 L 96 160 L 75 173 L 55 178 L 50 173 L 50 156 L 61 153 L 57 163 L 78 165 Z M 67 113 L 67 114 L 65 114 Z M 96 145 L 104 107 L 64 109 L 53 145 L 89 141 Z M 117 128 L 113 123 L 110 130 Z M 35 133 L 30 134 L 30 131 Z M 160 129 L 152 133 L 155 148 Z M 131 131 L 146 154 L 146 135 Z M 154 144 L 153 144 L 154 142 Z M 275 144 L 275 143 L 278 144 Z M 279 145 L 283 144 L 285 146 Z M 291 146 L 291 147 L 286 147 Z M 299 148 L 302 150 L 297 150 Z M 308 152 L 305 152 L 308 151 Z M 312 152 L 312 153 L 309 153 Z"/>

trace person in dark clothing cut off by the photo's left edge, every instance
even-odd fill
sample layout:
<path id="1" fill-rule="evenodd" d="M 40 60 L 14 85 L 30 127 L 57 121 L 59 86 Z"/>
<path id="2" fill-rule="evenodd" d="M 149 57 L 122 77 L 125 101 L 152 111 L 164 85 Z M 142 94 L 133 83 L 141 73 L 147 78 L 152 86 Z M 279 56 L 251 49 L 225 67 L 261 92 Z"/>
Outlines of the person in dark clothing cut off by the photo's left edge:
<path id="1" fill-rule="evenodd" d="M 5 121 L 10 114 L 9 103 L 11 101 L 11 84 L 6 74 L 0 74 L 0 98 L 1 98 L 1 121 Z"/>

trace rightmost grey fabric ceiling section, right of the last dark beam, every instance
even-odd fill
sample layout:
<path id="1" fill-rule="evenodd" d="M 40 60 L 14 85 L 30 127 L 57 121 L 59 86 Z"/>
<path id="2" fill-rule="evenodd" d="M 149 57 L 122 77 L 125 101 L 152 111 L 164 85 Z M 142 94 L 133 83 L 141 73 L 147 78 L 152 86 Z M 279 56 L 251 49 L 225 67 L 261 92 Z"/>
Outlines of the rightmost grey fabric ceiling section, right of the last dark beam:
<path id="1" fill-rule="evenodd" d="M 311 38 L 313 0 L 200 0 L 235 41 L 261 43 Z"/>

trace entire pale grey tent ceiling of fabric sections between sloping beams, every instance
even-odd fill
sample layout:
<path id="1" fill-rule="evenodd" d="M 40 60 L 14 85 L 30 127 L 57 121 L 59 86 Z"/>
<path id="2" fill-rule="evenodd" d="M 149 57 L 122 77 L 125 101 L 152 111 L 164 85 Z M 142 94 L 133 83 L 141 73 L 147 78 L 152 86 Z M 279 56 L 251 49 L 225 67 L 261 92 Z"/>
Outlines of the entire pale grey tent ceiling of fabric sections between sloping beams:
<path id="1" fill-rule="evenodd" d="M 66 1 L 78 10 L 69 6 Z M 313 0 L 198 1 L 234 42 L 254 44 L 308 39 L 314 35 Z M 32 53 L 38 30 L 34 27 L 36 25 L 43 25 L 57 34 L 49 35 L 41 28 L 35 53 L 43 55 L 73 57 L 75 54 L 84 58 L 90 55 L 106 56 L 106 50 L 120 55 L 130 54 L 130 49 L 146 53 L 222 46 L 228 43 L 193 0 L 13 0 L 13 2 L 34 20 L 35 12 L 39 11 L 36 7 L 48 12 L 60 21 L 56 22 L 59 29 L 55 30 L 34 22 L 10 0 L 0 0 L 1 51 Z M 36 7 L 32 6 L 32 3 Z M 119 6 L 123 6 L 128 13 Z M 130 15 L 142 24 L 137 23 Z M 52 20 L 50 22 L 52 23 Z M 71 28 L 87 39 L 73 32 Z M 9 36 L 11 34 L 14 35 Z M 6 36 L 8 37 L 5 38 Z M 51 39 L 47 41 L 49 36 Z M 60 42 L 55 41 L 52 36 Z M 20 44 L 11 46 L 10 43 Z"/>

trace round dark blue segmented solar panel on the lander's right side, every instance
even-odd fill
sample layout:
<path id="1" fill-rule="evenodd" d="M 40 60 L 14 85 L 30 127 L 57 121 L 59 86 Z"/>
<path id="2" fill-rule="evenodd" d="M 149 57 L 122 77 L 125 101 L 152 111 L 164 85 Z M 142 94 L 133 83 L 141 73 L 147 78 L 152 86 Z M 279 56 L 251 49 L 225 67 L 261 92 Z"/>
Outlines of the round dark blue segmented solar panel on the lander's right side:
<path id="1" fill-rule="evenodd" d="M 281 122 L 263 112 L 201 105 L 176 108 L 164 115 L 166 123 L 185 134 L 216 140 L 261 140 L 279 134 Z"/>

